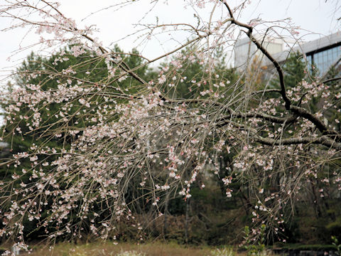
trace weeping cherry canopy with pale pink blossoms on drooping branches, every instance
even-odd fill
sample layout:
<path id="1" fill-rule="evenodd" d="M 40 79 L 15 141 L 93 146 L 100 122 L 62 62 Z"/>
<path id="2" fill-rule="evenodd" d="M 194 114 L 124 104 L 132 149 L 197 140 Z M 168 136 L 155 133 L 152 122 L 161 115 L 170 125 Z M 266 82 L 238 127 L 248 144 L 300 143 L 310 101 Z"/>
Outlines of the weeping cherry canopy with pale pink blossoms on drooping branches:
<path id="1" fill-rule="evenodd" d="M 190 33 L 153 59 L 102 46 L 92 38 L 92 27 L 78 28 L 51 1 L 9 0 L 1 6 L 0 16 L 51 34 L 42 37 L 42 47 L 70 46 L 52 58 L 33 55 L 16 71 L 9 95 L 2 96 L 1 139 L 23 138 L 11 143 L 13 156 L 1 163 L 15 170 L 2 181 L 2 236 L 25 247 L 28 218 L 50 239 L 79 237 L 85 229 L 115 239 L 122 223 L 143 238 L 136 202 L 143 200 L 162 215 L 167 195 L 188 201 L 191 189 L 204 187 L 203 177 L 213 173 L 224 175 L 219 178 L 228 198 L 239 192 L 232 180 L 248 184 L 252 221 L 259 224 L 253 235 L 263 233 L 266 224 L 276 239 L 285 240 L 286 216 L 314 179 L 333 184 L 330 193 L 339 193 L 339 78 L 323 80 L 300 62 L 278 63 L 264 40 L 293 33 L 293 27 L 285 21 L 280 28 L 270 25 L 259 40 L 254 31 L 268 23 L 239 21 L 248 1 L 233 7 L 229 1 L 188 5 L 198 14 L 209 10 L 210 17 L 196 16 L 195 23 L 157 18 L 136 34 L 151 40 L 158 33 L 171 38 L 178 31 Z M 28 15 L 21 17 L 18 10 Z M 222 61 L 239 32 L 271 62 L 274 86 L 259 85 L 257 74 L 265 71 L 254 72 L 251 55 L 239 73 Z M 146 72 L 166 57 L 161 68 Z M 28 138 L 34 141 L 29 148 Z M 226 166 L 222 158 L 228 159 Z M 138 192 L 130 193 L 132 187 Z M 327 196 L 323 189 L 319 193 Z"/>

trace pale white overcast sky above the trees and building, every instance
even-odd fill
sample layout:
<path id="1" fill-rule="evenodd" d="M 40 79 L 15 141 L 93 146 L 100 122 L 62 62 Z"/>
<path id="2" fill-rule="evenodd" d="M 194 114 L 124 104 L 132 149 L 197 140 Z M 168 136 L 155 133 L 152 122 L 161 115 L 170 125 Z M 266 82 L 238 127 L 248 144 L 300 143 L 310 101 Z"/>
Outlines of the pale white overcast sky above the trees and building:
<path id="1" fill-rule="evenodd" d="M 62 0 L 60 9 L 69 18 L 74 18 L 80 27 L 84 25 L 96 25 L 99 32 L 96 34 L 104 46 L 109 46 L 110 43 L 119 40 L 136 30 L 134 24 L 141 22 L 145 14 L 151 8 L 151 0 L 136 1 L 136 5 L 127 6 L 124 9 L 114 12 L 114 8 L 99 11 L 92 16 L 87 17 L 94 11 L 117 3 L 119 0 Z M 158 16 L 160 23 L 167 22 L 191 22 L 193 21 L 193 9 L 183 8 L 183 0 L 168 0 L 168 5 L 162 4 L 166 0 L 161 0 L 155 9 L 146 18 L 142 20 L 148 23 L 156 20 Z M 193 1 L 193 0 L 188 0 Z M 229 1 L 229 0 L 227 0 Z M 4 0 L 0 0 L 0 3 Z M 239 0 L 229 1 L 232 5 L 240 2 Z M 244 14 L 240 17 L 242 21 L 249 21 L 251 18 L 260 17 L 264 20 L 281 20 L 283 18 L 291 17 L 296 26 L 301 26 L 303 29 L 300 36 L 305 41 L 309 41 L 320 36 L 325 36 L 330 33 L 339 31 L 340 26 L 337 25 L 337 18 L 341 17 L 341 11 L 338 9 L 337 0 L 261 0 L 251 1 Z M 210 7 L 210 6 L 207 6 Z M 207 16 L 211 9 L 203 9 L 202 15 Z M 85 20 L 82 21 L 82 19 Z M 0 18 L 0 29 L 9 26 L 9 20 Z M 340 25 L 340 24 L 339 24 Z M 18 62 L 28 55 L 31 50 L 24 50 L 16 56 L 11 58 L 11 61 L 6 59 L 11 56 L 14 50 L 18 49 L 19 44 L 22 47 L 28 46 L 37 40 L 38 36 L 33 33 L 27 35 L 26 31 L 0 31 L 1 50 L 0 50 L 0 70 L 4 75 L 6 70 L 17 65 Z M 181 35 L 180 35 L 181 36 Z M 23 40 L 22 40 L 23 39 Z M 117 41 L 121 48 L 130 50 L 136 46 L 133 37 L 129 37 L 124 41 Z M 184 41 L 185 38 L 179 38 Z M 158 42 L 148 43 L 147 46 L 139 48 L 148 58 L 153 58 L 157 53 L 169 50 L 172 46 L 171 42 L 165 43 L 162 47 Z M 8 72 L 6 72 L 8 73 Z"/>

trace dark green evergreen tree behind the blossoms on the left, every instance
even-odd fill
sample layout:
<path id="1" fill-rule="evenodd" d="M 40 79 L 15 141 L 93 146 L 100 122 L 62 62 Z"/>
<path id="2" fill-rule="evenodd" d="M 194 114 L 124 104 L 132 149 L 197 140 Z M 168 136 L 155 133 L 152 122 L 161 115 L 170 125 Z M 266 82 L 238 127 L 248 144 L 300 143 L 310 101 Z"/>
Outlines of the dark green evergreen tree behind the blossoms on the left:
<path id="1" fill-rule="evenodd" d="M 122 61 L 127 63 L 129 68 L 138 67 L 143 64 L 143 60 L 139 57 L 137 50 L 133 49 L 131 55 L 120 55 L 122 50 L 118 46 L 114 46 L 112 51 L 117 58 L 121 58 Z M 113 67 L 113 69 L 115 69 L 115 67 Z M 91 72 L 89 72 L 89 70 L 91 70 Z M 144 77 L 146 76 L 147 71 L 148 68 L 144 66 L 136 70 L 136 73 L 141 77 Z M 55 72 L 63 73 L 64 75 L 60 78 L 50 75 Z M 117 69 L 113 72 L 119 73 L 119 70 Z M 30 75 L 31 73 L 36 73 L 38 75 L 32 76 Z M 70 77 L 70 80 L 68 76 Z M 98 105 L 104 105 L 105 103 L 111 105 L 109 107 L 114 107 L 114 102 L 106 102 L 105 94 L 120 93 L 121 95 L 126 95 L 126 99 L 128 99 L 130 93 L 140 90 L 140 88 L 136 88 L 136 81 L 130 78 L 115 81 L 112 78 L 112 75 L 108 74 L 107 63 L 105 63 L 102 58 L 93 58 L 92 53 L 83 53 L 82 55 L 75 57 L 66 49 L 60 50 L 59 53 L 50 57 L 42 57 L 35 53 L 28 55 L 26 60 L 17 68 L 14 81 L 8 84 L 6 90 L 8 92 L 13 92 L 15 90 L 32 91 L 36 90 L 36 87 L 40 87 L 43 93 L 50 93 L 53 95 L 60 86 L 64 86 L 65 88 L 77 86 L 80 91 L 83 91 L 86 90 L 85 85 L 90 81 L 91 86 L 95 87 L 96 83 L 100 83 L 103 80 L 106 80 L 106 82 L 109 80 L 110 85 L 107 87 L 107 90 L 102 94 L 94 93 L 91 98 L 92 102 L 96 102 Z M 112 80 L 112 82 L 110 82 L 110 80 Z M 119 86 L 117 83 L 119 83 Z M 23 152 L 32 149 L 34 150 L 35 148 L 58 149 L 59 151 L 48 156 L 48 159 L 46 156 L 43 157 L 38 154 L 38 159 L 36 159 L 38 164 L 36 164 L 36 166 L 33 166 L 30 159 L 23 160 L 20 164 L 16 165 L 0 166 L 1 181 L 9 180 L 13 175 L 23 174 L 21 175 L 21 178 L 18 178 L 15 185 L 20 187 L 20 183 L 29 182 L 28 176 L 31 176 L 33 173 L 36 174 L 37 178 L 43 174 L 42 171 L 48 173 L 50 166 L 43 166 L 42 163 L 44 161 L 54 161 L 58 159 L 59 153 L 63 150 L 70 149 L 70 145 L 75 141 L 75 136 L 65 133 L 66 127 L 72 127 L 75 130 L 82 131 L 82 127 L 90 126 L 92 123 L 97 122 L 95 113 L 92 112 L 91 108 L 87 112 L 80 113 L 82 107 L 82 103 L 80 102 L 81 98 L 76 97 L 76 99 L 77 100 L 73 101 L 72 104 L 67 106 L 63 105 L 63 98 L 60 99 L 60 103 L 53 103 L 48 107 L 42 103 L 39 106 L 40 124 L 42 124 L 39 129 L 35 128 L 33 125 L 32 117 L 35 113 L 32 110 L 29 110 L 29 107 L 20 105 L 14 122 L 12 120 L 11 124 L 7 124 L 6 127 L 3 127 L 2 129 L 4 147 L 2 148 L 1 145 L 1 158 L 6 160 L 7 157 L 8 160 L 11 160 L 10 154 L 22 154 Z M 121 101 L 126 99 L 122 97 Z M 6 102 L 0 103 L 0 107 L 5 110 L 9 105 L 12 105 L 13 103 L 16 104 L 17 100 L 18 99 L 15 97 L 9 97 Z M 119 102 L 119 100 L 117 100 L 117 102 Z M 65 108 L 70 109 L 74 114 L 71 116 L 69 115 L 67 120 L 61 124 L 58 122 L 58 118 L 63 116 Z M 7 117 L 4 116 L 4 118 L 6 119 Z M 117 117 L 113 116 L 112 118 L 115 119 Z M 45 129 L 44 127 L 49 127 L 49 129 Z M 11 130 L 13 129 L 16 129 L 19 133 L 14 135 L 11 134 Z M 52 133 L 56 131 L 59 131 L 58 137 L 52 136 Z M 7 193 L 7 191 L 1 191 L 0 189 L 0 193 Z M 44 207 L 42 207 L 42 209 L 41 214 L 45 216 L 48 215 L 49 209 Z M 29 238 L 35 238 L 37 235 L 43 235 L 45 233 L 45 230 L 43 229 L 36 230 L 37 223 L 35 220 L 29 220 L 27 216 L 24 218 L 26 218 L 24 225 L 27 227 L 24 235 Z M 80 221 L 76 215 L 72 218 L 74 218 L 74 220 L 71 221 L 75 223 Z M 53 229 L 55 227 L 51 225 L 51 227 L 48 228 Z"/>

